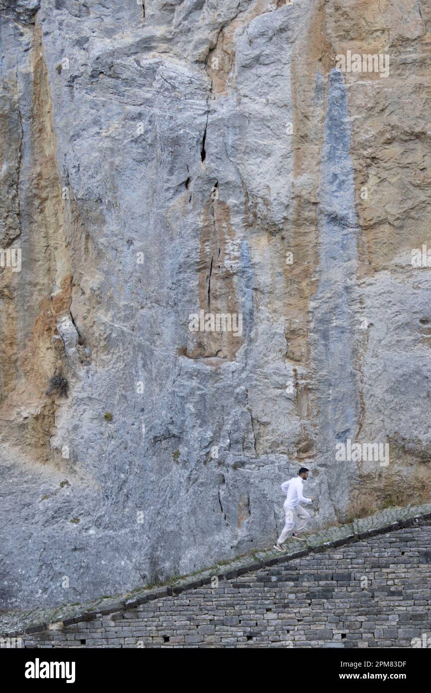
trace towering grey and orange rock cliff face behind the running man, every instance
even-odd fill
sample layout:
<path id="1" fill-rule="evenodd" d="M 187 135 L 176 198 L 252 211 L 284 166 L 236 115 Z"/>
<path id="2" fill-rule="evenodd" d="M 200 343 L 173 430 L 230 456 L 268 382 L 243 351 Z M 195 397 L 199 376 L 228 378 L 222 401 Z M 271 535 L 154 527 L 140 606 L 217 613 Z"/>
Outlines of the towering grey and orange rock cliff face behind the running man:
<path id="1" fill-rule="evenodd" d="M 3 606 L 429 498 L 430 7 L 0 7 Z"/>

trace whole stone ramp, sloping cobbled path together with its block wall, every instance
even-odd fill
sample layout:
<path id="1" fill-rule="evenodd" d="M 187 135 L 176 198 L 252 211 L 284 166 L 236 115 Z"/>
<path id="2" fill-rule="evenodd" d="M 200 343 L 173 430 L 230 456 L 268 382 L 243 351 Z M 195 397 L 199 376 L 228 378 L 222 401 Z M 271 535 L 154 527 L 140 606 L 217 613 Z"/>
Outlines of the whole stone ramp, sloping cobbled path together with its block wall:
<path id="1" fill-rule="evenodd" d="M 389 509 L 309 535 L 305 546 L 292 542 L 286 554 L 256 553 L 253 563 L 244 557 L 158 590 L 76 606 L 75 612 L 66 606 L 61 613 L 10 613 L 3 625 L 11 626 L 15 619 L 19 628 L 26 621 L 26 634 L 8 628 L 9 635 L 21 635 L 26 647 L 70 647 L 71 640 L 94 647 L 155 647 L 165 642 L 199 647 L 232 642 L 272 647 L 284 642 L 290 647 L 290 641 L 295 647 L 310 642 L 352 647 L 356 641 L 358 647 L 395 647 L 392 641 L 399 640 L 402 644 L 396 647 L 407 647 L 407 631 L 401 626 L 406 610 L 418 621 L 414 627 L 424 632 L 429 617 L 429 525 L 430 505 Z M 364 577 L 367 584 L 361 582 Z M 339 620 L 331 620 L 333 615 Z M 371 620 L 374 630 L 363 623 L 371 615 L 376 616 Z M 271 623 L 264 628 L 264 622 Z M 333 625 L 337 623 L 340 627 Z M 388 630 L 392 623 L 396 634 Z M 322 624 L 327 626 L 322 629 Z M 286 625 L 295 628 L 287 632 Z M 358 628 L 360 633 L 355 633 Z M 320 630 L 324 632 L 317 633 Z"/>

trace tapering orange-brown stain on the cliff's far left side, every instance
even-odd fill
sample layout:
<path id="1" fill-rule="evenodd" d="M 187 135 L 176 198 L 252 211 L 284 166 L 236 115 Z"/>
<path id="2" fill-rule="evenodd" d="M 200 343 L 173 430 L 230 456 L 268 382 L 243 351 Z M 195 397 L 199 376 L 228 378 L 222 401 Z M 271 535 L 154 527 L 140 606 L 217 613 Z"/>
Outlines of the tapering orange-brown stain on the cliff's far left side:
<path id="1" fill-rule="evenodd" d="M 10 378 L 2 374 L 0 419 L 8 422 L 10 444 L 25 446 L 33 457 L 48 459 L 48 439 L 55 421 L 55 396 L 47 396 L 49 380 L 62 371 L 65 354 L 57 333 L 60 317 L 71 306 L 71 261 L 66 238 L 66 208 L 56 164 L 56 140 L 42 30 L 35 25 L 31 48 L 33 112 L 30 123 L 30 229 L 24 246 L 19 286 L 8 293 L 8 336 L 3 341 L 1 365 L 8 359 Z M 4 276 L 4 275 L 3 275 Z M 3 277 L 1 278 L 3 279 Z M 25 303 L 24 283 L 31 288 Z M 3 288 L 3 292 L 8 291 Z M 24 313 L 26 319 L 24 321 Z M 17 324 L 26 325 L 19 333 Z"/>

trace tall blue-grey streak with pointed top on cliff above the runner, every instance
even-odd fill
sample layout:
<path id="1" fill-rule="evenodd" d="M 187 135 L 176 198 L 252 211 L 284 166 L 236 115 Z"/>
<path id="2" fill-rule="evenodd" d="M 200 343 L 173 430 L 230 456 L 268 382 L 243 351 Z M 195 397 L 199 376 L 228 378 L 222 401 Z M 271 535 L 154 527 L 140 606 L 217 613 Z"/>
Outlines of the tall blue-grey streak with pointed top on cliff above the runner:
<path id="1" fill-rule="evenodd" d="M 336 462 L 336 443 L 354 439 L 360 401 L 354 365 L 358 225 L 350 156 L 347 92 L 342 74 L 329 77 L 320 168 L 318 290 L 311 301 L 313 365 L 318 378 L 318 436 L 322 466 L 337 505 L 349 500 L 351 463 Z"/>

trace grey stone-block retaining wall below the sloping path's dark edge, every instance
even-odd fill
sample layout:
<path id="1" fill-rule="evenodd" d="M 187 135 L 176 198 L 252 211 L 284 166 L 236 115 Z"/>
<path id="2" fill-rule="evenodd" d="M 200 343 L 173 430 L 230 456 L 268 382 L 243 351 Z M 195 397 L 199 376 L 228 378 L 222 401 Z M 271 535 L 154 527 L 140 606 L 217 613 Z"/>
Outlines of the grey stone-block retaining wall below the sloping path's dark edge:
<path id="1" fill-rule="evenodd" d="M 431 631 L 431 527 L 166 596 L 25 647 L 412 647 Z"/>

